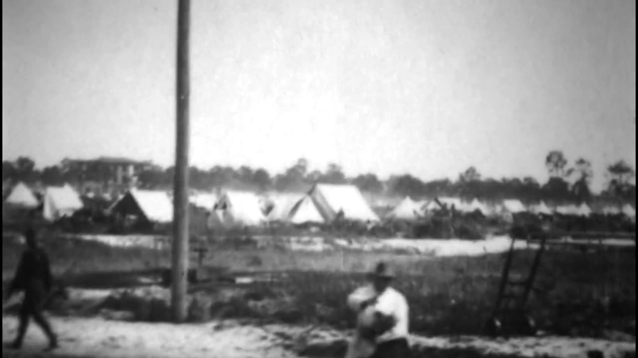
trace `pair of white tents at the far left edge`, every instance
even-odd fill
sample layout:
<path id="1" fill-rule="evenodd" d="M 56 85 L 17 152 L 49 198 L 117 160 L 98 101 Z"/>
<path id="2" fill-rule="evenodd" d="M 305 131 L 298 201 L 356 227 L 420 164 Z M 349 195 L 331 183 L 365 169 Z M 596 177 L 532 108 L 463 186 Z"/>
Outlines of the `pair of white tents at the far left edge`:
<path id="1" fill-rule="evenodd" d="M 75 211 L 83 207 L 80 195 L 68 184 L 63 187 L 46 187 L 41 199 L 38 199 L 29 187 L 20 182 L 13 187 L 3 201 L 3 220 L 13 210 L 41 208 L 43 218 L 55 221 L 61 217 L 73 215 Z"/>

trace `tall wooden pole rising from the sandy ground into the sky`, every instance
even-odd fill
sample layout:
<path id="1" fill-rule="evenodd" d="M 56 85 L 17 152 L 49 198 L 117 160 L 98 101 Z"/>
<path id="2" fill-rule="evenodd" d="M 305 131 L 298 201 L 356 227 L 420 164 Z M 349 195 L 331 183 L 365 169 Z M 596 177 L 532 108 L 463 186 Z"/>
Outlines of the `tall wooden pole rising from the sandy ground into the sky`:
<path id="1" fill-rule="evenodd" d="M 171 308 L 175 323 L 186 319 L 188 273 L 188 135 L 190 0 L 177 5 L 177 131 L 173 197 Z"/>

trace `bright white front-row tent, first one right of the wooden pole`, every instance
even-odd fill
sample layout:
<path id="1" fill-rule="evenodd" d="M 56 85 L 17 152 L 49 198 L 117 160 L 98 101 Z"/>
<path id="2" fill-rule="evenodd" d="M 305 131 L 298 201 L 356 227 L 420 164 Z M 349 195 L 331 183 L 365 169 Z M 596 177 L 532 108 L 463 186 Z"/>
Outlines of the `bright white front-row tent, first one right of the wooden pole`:
<path id="1" fill-rule="evenodd" d="M 252 192 L 226 191 L 217 203 L 223 222 L 229 226 L 259 226 L 266 221 L 259 198 Z"/>

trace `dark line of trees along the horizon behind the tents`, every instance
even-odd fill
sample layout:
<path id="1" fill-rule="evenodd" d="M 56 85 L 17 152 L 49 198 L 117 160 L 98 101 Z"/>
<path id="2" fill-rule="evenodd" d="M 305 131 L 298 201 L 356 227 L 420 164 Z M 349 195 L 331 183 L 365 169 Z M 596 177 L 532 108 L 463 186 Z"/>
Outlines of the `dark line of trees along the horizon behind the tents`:
<path id="1" fill-rule="evenodd" d="M 278 190 L 281 192 L 302 192 L 313 183 L 352 183 L 363 192 L 391 196 L 434 197 L 455 196 L 484 200 L 517 198 L 526 202 L 538 199 L 551 201 L 588 202 L 593 199 L 591 162 L 579 158 L 569 162 L 560 150 L 553 150 L 545 157 L 545 167 L 549 180 L 539 183 L 535 178 L 485 178 L 475 167 L 459 173 L 455 179 L 442 178 L 424 181 L 410 174 L 392 175 L 381 180 L 374 173 L 348 177 L 338 164 L 329 164 L 325 171 L 310 170 L 306 159 L 297 160 L 283 173 L 271 174 L 263 168 L 241 166 L 214 166 L 201 169 L 190 168 L 190 186 L 193 189 L 211 190 L 232 188 L 244 190 Z M 635 203 L 635 169 L 625 161 L 616 161 L 607 166 L 607 187 L 601 196 L 623 202 Z M 100 177 L 99 173 L 92 175 Z M 138 187 L 144 189 L 170 189 L 174 177 L 174 167 L 154 166 L 138 176 Z M 27 183 L 40 182 L 44 185 L 75 183 L 78 173 L 64 171 L 61 165 L 36 168 L 29 157 L 19 157 L 15 161 L 3 161 L 3 182 L 6 180 Z M 103 178 L 107 182 L 108 178 Z"/>

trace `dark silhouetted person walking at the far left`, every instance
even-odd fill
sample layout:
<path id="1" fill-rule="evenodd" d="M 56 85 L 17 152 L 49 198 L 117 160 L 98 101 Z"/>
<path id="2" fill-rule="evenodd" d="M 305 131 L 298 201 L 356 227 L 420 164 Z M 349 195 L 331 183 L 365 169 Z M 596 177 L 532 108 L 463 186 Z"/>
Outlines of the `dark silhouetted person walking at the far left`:
<path id="1" fill-rule="evenodd" d="M 29 319 L 33 317 L 36 324 L 47 335 L 49 341 L 47 350 L 52 350 L 57 348 L 57 337 L 43 314 L 44 305 L 52 289 L 51 268 L 47 254 L 36 243 L 35 231 L 29 228 L 24 236 L 27 250 L 22 254 L 8 292 L 8 297 L 10 297 L 16 291 L 24 291 L 24 299 L 22 299 L 20 306 L 18 336 L 11 344 L 11 348 L 19 349 L 22 347 L 24 334 L 29 327 Z"/>

